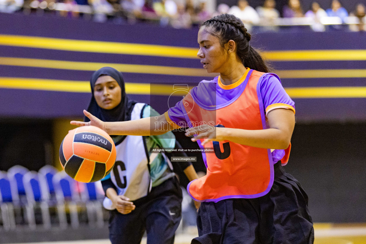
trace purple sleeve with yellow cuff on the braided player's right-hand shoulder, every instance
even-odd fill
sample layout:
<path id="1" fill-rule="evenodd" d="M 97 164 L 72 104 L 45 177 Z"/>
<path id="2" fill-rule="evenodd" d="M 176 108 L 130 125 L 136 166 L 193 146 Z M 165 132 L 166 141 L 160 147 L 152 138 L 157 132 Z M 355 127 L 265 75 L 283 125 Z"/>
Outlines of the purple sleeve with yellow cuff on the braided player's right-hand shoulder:
<path id="1" fill-rule="evenodd" d="M 276 108 L 291 109 L 295 113 L 295 102 L 291 100 L 276 76 L 266 75 L 261 81 L 260 90 L 266 113 Z"/>

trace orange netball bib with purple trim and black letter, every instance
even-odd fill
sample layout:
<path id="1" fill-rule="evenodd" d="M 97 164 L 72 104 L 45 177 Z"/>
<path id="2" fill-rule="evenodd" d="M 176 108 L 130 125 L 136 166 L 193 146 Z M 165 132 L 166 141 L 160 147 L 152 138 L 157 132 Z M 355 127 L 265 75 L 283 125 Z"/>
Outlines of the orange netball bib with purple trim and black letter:
<path id="1" fill-rule="evenodd" d="M 224 106 L 203 105 L 192 94 L 183 99 L 190 127 L 202 121 L 214 121 L 217 127 L 266 129 L 266 119 L 259 81 L 265 73 L 249 70 L 237 97 Z M 202 153 L 207 174 L 191 181 L 187 190 L 200 202 L 218 202 L 228 198 L 257 198 L 272 187 L 273 161 L 270 149 L 242 144 L 212 141 L 201 148 L 214 148 L 214 153 Z"/>

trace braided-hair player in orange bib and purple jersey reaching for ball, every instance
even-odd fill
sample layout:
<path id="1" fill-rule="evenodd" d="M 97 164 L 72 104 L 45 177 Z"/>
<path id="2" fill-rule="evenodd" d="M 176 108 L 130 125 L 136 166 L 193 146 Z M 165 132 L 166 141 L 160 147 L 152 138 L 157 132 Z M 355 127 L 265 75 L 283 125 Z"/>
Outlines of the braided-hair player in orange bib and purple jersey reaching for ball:
<path id="1" fill-rule="evenodd" d="M 192 244 L 311 244 L 314 229 L 307 195 L 281 165 L 290 153 L 294 102 L 250 39 L 234 15 L 215 16 L 199 29 L 197 56 L 207 72 L 220 76 L 203 80 L 157 118 L 104 123 L 84 114 L 91 119 L 87 124 L 108 134 L 164 132 L 150 129 L 150 123 L 190 127 L 187 136 L 193 135 L 200 147 L 214 148 L 214 153 L 202 153 L 206 176 L 187 187 L 201 202 L 199 237 Z"/>

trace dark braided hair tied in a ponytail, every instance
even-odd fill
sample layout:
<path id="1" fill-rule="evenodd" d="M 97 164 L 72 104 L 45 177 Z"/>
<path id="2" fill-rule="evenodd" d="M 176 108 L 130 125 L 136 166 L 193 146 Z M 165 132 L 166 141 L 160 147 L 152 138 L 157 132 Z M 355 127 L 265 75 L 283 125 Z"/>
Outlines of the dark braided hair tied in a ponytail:
<path id="1" fill-rule="evenodd" d="M 269 72 L 261 55 L 249 44 L 251 35 L 242 20 L 232 14 L 221 14 L 206 20 L 202 26 L 213 28 L 213 31 L 209 31 L 209 33 L 219 38 L 221 46 L 224 46 L 229 40 L 235 41 L 236 53 L 242 60 L 244 67 L 260 72 Z"/>

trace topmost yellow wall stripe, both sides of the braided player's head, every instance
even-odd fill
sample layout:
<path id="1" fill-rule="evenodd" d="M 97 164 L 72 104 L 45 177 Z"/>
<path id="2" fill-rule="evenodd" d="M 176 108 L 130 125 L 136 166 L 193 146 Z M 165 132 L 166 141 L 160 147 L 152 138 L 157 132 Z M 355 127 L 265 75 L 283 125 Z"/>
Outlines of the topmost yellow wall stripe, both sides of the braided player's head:
<path id="1" fill-rule="evenodd" d="M 135 44 L 124 42 L 71 40 L 23 35 L 0 35 L 0 45 L 44 48 L 76 52 L 115 53 L 159 57 L 198 59 L 198 48 Z M 287 50 L 261 54 L 271 61 L 366 60 L 366 50 Z"/>

